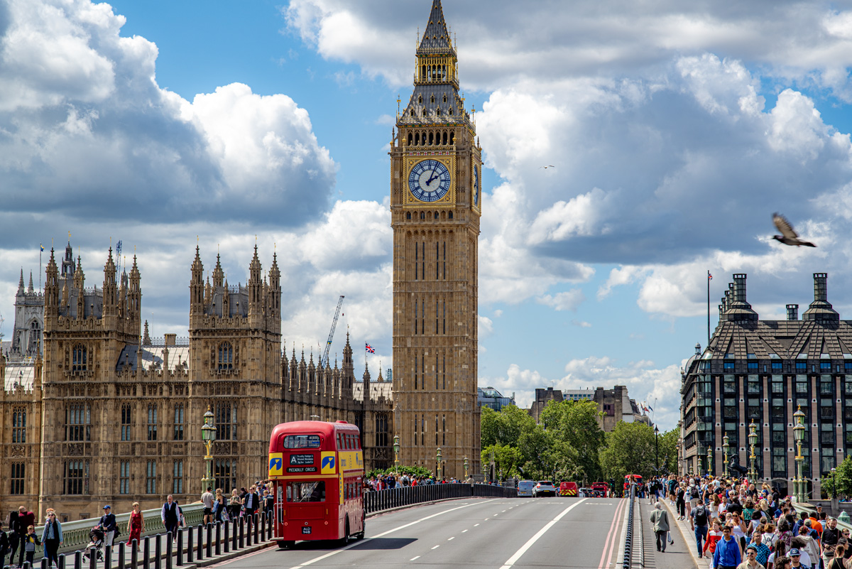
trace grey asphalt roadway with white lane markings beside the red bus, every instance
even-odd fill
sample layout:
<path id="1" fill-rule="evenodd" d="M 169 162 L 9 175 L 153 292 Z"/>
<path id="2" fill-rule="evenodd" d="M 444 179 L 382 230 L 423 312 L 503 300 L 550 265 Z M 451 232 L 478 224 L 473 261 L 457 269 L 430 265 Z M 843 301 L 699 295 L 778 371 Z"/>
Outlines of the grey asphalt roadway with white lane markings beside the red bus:
<path id="1" fill-rule="evenodd" d="M 625 500 L 469 498 L 371 517 L 366 538 L 342 546 L 299 542 L 224 561 L 227 569 L 266 567 L 583 567 L 615 566 Z"/>

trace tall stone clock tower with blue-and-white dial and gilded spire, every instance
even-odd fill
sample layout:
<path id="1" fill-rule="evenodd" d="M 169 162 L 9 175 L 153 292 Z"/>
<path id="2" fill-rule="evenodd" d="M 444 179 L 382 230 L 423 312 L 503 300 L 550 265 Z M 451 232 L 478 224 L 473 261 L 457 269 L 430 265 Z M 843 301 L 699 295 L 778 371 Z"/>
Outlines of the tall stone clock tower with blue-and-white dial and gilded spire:
<path id="1" fill-rule="evenodd" d="M 458 95 L 458 57 L 434 0 L 414 91 L 391 145 L 394 429 L 400 463 L 479 474 L 476 405 L 481 148 Z"/>

